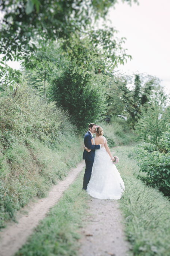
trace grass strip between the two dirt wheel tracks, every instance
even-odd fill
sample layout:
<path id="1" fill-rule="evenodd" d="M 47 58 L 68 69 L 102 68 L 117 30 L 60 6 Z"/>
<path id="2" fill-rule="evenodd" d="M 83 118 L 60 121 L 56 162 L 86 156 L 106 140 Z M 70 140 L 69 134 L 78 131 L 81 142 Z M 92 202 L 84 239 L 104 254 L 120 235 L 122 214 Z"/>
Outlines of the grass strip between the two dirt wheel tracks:
<path id="1" fill-rule="evenodd" d="M 83 175 L 84 170 L 15 256 L 77 255 L 80 238 L 77 231 L 82 225 L 89 200 L 89 195 L 81 189 Z"/>

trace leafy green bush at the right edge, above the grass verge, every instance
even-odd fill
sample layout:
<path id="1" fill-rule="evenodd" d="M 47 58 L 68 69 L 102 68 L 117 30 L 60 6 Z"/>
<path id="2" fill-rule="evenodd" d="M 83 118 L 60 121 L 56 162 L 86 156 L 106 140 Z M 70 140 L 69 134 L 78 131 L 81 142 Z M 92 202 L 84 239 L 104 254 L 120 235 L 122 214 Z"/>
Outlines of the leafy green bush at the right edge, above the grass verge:
<path id="1" fill-rule="evenodd" d="M 166 132 L 162 132 L 158 150 L 155 144 L 137 145 L 138 165 L 140 171 L 139 178 L 147 184 L 156 186 L 165 195 L 170 196 L 170 124 L 164 126 Z M 152 133 L 154 133 L 152 131 Z M 155 130 L 155 134 L 157 131 Z"/>

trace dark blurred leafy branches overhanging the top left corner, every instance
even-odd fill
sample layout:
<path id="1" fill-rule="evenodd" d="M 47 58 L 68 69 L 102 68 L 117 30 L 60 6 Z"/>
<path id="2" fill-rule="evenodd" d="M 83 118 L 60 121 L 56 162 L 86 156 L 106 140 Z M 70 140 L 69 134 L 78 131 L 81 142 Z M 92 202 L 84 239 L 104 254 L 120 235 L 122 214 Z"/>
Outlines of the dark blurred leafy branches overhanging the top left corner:
<path id="1" fill-rule="evenodd" d="M 126 0 L 131 3 L 131 0 Z M 44 0 L 5 0 L 0 1 L 4 18 L 1 25 L 1 51 L 12 58 L 34 51 L 36 43 L 31 39 L 37 35 L 43 40 L 71 38 L 75 31 L 86 29 L 96 18 L 105 16 L 115 0 L 99 1 L 44 1 Z M 22 43 L 21 43 L 22 42 Z M 8 51 L 6 51 L 8 49 Z"/>

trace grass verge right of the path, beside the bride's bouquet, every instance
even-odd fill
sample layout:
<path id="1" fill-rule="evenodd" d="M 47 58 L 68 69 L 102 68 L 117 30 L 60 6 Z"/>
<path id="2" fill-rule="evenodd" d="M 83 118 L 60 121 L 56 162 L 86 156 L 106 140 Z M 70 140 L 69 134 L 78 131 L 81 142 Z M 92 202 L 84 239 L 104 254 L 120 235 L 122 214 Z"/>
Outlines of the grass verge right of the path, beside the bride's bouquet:
<path id="1" fill-rule="evenodd" d="M 133 256 L 170 255 L 170 202 L 161 192 L 146 186 L 136 177 L 139 169 L 132 147 L 116 148 L 119 169 L 126 186 L 120 200 L 126 235 Z"/>

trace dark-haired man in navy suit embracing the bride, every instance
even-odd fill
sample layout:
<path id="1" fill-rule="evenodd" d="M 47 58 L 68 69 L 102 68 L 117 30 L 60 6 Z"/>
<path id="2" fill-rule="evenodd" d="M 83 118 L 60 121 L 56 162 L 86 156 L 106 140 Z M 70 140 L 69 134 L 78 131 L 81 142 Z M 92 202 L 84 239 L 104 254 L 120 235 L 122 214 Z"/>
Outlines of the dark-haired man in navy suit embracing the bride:
<path id="1" fill-rule="evenodd" d="M 95 159 L 95 149 L 100 149 L 100 147 L 104 147 L 104 144 L 100 145 L 92 145 L 91 139 L 93 138 L 93 133 L 96 130 L 96 124 L 89 124 L 89 130 L 84 136 L 84 145 L 91 149 L 90 152 L 87 152 L 84 150 L 83 152 L 83 159 L 85 159 L 86 162 L 86 169 L 85 169 L 85 174 L 84 174 L 84 180 L 83 180 L 83 189 L 87 189 L 87 184 L 90 181 L 90 177 L 92 174 L 92 167 L 93 167 L 93 162 Z"/>

